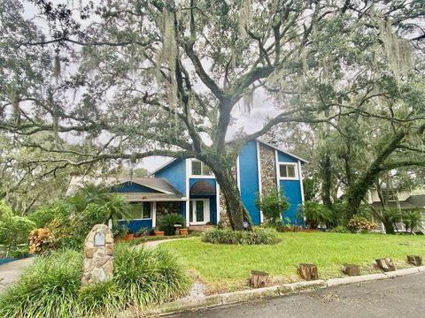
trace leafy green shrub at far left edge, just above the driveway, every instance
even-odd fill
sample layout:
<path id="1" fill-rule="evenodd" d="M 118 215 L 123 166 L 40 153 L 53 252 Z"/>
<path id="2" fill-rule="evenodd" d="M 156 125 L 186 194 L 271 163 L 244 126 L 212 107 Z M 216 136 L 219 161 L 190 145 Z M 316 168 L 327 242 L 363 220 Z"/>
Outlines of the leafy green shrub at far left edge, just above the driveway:
<path id="1" fill-rule="evenodd" d="M 28 242 L 28 234 L 35 228 L 35 223 L 27 217 L 10 216 L 0 221 L 0 242 L 8 249 L 16 249 L 19 244 Z"/>

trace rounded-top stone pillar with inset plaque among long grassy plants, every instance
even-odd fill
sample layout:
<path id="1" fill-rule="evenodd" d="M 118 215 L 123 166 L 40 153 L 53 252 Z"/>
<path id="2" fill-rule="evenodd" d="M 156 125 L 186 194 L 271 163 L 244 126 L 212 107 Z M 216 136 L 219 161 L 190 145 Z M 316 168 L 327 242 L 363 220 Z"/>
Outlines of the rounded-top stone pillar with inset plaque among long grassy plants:
<path id="1" fill-rule="evenodd" d="M 102 283 L 112 278 L 113 236 L 107 225 L 97 224 L 89 231 L 84 242 L 82 261 L 83 285 Z"/>

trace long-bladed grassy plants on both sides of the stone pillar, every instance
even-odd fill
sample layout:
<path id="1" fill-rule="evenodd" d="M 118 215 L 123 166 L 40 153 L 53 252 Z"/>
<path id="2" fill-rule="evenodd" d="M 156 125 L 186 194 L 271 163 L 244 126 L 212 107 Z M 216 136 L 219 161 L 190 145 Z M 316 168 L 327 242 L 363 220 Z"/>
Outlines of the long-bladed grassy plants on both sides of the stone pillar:
<path id="1" fill-rule="evenodd" d="M 39 256 L 19 282 L 0 296 L 2 317 L 116 316 L 182 297 L 190 281 L 166 250 L 118 244 L 109 282 L 81 286 L 81 253 Z"/>

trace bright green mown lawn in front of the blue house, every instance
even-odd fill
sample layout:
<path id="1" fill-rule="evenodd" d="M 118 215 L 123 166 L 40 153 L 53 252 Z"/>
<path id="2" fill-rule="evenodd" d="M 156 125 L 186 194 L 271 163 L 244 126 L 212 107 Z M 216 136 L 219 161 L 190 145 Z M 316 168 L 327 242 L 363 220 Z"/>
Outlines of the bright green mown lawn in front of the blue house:
<path id="1" fill-rule="evenodd" d="M 227 246 L 203 243 L 199 238 L 166 242 L 180 256 L 208 292 L 247 288 L 251 269 L 267 271 L 270 284 L 295 282 L 297 264 L 314 263 L 323 279 L 343 276 L 341 265 L 355 263 L 362 274 L 376 273 L 375 259 L 391 257 L 398 267 L 411 267 L 406 254 L 425 256 L 425 237 L 384 234 L 281 233 L 275 246 Z"/>

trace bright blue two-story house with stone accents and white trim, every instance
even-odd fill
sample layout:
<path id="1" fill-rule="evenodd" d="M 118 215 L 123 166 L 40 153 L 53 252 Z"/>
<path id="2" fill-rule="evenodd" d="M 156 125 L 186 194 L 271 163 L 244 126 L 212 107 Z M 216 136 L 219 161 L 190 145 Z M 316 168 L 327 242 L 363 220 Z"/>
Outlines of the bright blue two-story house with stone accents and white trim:
<path id="1" fill-rule="evenodd" d="M 254 224 L 264 222 L 255 206 L 258 193 L 278 188 L 288 198 L 290 208 L 284 216 L 290 223 L 297 219 L 298 205 L 304 201 L 302 183 L 304 159 L 261 140 L 247 142 L 237 158 L 234 177 L 241 192 L 243 205 Z M 187 226 L 217 224 L 226 219 L 224 197 L 210 168 L 195 159 L 173 159 L 152 173 L 153 178 L 114 178 L 105 182 L 113 192 L 122 193 L 135 205 L 129 227 L 154 228 L 158 217 L 178 213 Z M 81 184 L 73 179 L 73 184 Z M 98 181 L 99 182 L 99 181 Z"/>

